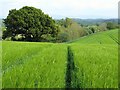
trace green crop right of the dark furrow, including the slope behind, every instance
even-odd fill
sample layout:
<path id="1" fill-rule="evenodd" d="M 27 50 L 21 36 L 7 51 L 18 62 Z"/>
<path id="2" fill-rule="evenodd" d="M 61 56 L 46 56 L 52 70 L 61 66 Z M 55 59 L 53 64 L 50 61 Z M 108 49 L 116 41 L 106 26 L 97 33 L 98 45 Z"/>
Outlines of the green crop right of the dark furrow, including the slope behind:
<path id="1" fill-rule="evenodd" d="M 71 44 L 73 87 L 118 87 L 118 30 L 83 37 Z"/>

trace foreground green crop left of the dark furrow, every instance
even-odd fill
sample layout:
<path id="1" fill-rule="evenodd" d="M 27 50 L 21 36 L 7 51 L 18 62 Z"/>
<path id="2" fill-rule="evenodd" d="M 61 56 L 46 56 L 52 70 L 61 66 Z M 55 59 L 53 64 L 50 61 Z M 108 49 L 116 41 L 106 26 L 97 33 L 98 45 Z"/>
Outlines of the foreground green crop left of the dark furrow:
<path id="1" fill-rule="evenodd" d="M 66 59 L 63 44 L 3 42 L 2 86 L 65 87 Z"/>

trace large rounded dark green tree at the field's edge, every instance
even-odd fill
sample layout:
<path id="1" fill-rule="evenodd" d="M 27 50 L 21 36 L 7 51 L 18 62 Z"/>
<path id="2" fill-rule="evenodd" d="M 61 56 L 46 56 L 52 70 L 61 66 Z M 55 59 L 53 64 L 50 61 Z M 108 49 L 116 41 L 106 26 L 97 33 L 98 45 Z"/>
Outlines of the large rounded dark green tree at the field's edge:
<path id="1" fill-rule="evenodd" d="M 3 32 L 3 39 L 11 37 L 11 40 L 17 40 L 16 36 L 19 35 L 19 40 L 23 41 L 49 41 L 55 40 L 59 32 L 51 17 L 29 6 L 10 10 L 4 23 L 6 31 Z"/>

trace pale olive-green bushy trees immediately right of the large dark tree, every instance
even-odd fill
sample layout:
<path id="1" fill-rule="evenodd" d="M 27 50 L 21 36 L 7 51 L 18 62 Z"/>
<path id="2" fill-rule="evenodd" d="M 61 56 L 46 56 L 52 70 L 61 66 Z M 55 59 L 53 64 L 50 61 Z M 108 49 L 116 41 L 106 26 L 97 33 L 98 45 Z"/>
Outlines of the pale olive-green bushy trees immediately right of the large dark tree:
<path id="1" fill-rule="evenodd" d="M 57 23 L 60 28 L 58 42 L 66 42 L 87 35 L 84 28 L 70 18 L 61 19 Z"/>

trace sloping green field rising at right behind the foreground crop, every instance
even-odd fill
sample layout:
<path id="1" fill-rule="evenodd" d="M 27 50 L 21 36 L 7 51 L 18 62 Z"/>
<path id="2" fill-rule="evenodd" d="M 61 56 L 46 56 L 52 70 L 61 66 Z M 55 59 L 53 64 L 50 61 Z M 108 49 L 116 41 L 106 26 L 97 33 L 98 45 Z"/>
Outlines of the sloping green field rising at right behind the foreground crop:
<path id="1" fill-rule="evenodd" d="M 118 29 L 99 32 L 85 37 L 81 37 L 69 43 L 79 44 L 118 44 Z"/>

